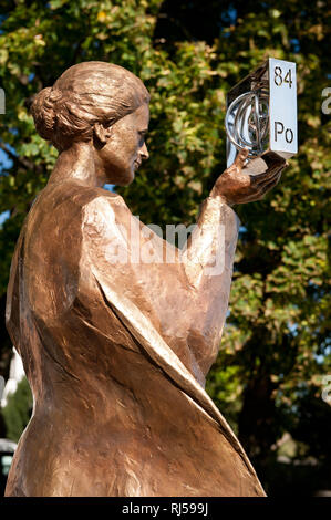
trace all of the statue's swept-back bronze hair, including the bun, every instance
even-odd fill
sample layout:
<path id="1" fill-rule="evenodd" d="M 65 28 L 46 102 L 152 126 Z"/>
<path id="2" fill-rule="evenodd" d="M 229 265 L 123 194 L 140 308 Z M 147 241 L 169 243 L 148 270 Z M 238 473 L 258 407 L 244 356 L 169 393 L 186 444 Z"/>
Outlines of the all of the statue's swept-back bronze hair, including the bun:
<path id="1" fill-rule="evenodd" d="M 72 65 L 39 92 L 30 113 L 39 135 L 61 153 L 74 142 L 92 142 L 95 123 L 113 125 L 148 102 L 147 89 L 132 72 L 90 61 Z"/>

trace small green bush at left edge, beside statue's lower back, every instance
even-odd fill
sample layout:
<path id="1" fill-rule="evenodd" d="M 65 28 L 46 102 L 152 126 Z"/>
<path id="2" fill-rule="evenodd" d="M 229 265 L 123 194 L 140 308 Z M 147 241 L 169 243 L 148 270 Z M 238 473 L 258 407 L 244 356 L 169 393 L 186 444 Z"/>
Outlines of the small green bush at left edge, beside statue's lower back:
<path id="1" fill-rule="evenodd" d="M 27 377 L 23 377 L 14 394 L 10 394 L 1 414 L 4 418 L 7 437 L 18 441 L 29 423 L 32 412 L 32 394 Z"/>

